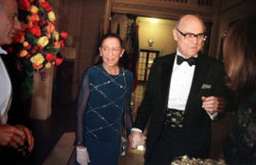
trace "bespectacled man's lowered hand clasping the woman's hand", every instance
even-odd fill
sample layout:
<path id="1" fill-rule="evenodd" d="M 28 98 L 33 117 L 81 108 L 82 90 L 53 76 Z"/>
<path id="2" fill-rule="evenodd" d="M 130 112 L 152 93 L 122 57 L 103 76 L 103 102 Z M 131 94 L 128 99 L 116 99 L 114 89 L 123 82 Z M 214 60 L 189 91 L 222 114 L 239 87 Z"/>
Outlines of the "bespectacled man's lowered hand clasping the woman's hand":
<path id="1" fill-rule="evenodd" d="M 131 134 L 129 136 L 131 148 L 135 149 L 137 148 L 138 145 L 144 145 L 145 140 L 146 140 L 146 137 L 143 136 L 142 132 L 131 131 Z"/>

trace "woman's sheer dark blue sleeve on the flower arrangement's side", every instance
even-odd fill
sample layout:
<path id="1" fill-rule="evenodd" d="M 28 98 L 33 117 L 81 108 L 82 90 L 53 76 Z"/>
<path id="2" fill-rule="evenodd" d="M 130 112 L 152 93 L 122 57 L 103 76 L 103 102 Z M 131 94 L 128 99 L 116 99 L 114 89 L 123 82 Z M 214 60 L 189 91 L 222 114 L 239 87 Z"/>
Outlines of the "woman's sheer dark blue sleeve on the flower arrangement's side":
<path id="1" fill-rule="evenodd" d="M 75 145 L 84 145 L 83 141 L 83 113 L 86 107 L 86 103 L 89 97 L 89 77 L 85 72 L 82 76 L 82 83 L 79 91 L 78 102 L 77 102 L 77 114 L 76 114 L 76 140 Z"/>

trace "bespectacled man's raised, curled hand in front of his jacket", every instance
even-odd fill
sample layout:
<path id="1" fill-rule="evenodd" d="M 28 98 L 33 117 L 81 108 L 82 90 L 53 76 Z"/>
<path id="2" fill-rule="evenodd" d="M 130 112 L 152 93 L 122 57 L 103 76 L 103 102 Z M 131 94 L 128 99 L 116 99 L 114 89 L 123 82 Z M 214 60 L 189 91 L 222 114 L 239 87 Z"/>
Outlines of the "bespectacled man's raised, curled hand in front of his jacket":
<path id="1" fill-rule="evenodd" d="M 210 114 L 218 112 L 226 107 L 226 101 L 222 97 L 215 96 L 202 96 L 203 105 L 202 107 Z"/>

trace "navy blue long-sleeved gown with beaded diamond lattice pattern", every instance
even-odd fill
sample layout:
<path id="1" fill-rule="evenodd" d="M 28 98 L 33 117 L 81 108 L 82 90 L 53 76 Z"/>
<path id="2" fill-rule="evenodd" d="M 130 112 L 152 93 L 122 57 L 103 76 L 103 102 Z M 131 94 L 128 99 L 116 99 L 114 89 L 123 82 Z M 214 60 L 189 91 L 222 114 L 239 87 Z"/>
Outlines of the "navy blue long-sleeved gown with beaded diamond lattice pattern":
<path id="1" fill-rule="evenodd" d="M 119 68 L 108 74 L 102 64 L 87 69 L 77 105 L 75 145 L 87 148 L 90 165 L 118 165 L 121 124 L 127 135 L 133 120 L 130 107 L 133 74 Z"/>

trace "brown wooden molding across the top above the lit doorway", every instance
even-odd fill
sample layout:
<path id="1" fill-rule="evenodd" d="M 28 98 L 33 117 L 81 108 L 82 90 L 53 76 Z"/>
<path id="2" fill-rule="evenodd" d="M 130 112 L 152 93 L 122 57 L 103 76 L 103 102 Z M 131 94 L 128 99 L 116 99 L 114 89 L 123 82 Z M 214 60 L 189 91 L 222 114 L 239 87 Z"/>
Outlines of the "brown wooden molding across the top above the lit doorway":
<path id="1" fill-rule="evenodd" d="M 213 2 L 211 0 L 112 0 L 111 10 L 163 19 L 177 19 L 182 14 L 194 13 L 211 21 L 219 1 Z"/>

